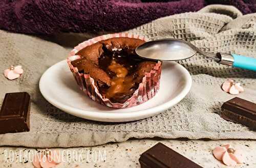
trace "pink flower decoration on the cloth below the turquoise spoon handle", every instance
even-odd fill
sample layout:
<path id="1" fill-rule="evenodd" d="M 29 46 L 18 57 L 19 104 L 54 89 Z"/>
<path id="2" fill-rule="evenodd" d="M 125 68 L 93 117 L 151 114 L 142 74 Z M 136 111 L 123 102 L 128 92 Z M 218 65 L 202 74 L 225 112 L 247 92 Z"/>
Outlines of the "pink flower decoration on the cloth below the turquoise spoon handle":
<path id="1" fill-rule="evenodd" d="M 222 84 L 222 90 L 230 93 L 231 95 L 237 95 L 240 92 L 244 92 L 244 88 L 241 87 L 241 83 L 235 83 L 232 79 L 228 79 Z"/>

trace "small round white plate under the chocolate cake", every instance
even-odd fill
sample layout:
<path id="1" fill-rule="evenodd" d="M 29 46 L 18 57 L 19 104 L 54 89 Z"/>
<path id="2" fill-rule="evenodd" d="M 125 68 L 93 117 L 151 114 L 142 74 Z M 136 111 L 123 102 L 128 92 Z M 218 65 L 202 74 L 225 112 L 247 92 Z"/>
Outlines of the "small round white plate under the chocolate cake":
<path id="1" fill-rule="evenodd" d="M 52 105 L 71 115 L 95 121 L 125 122 L 151 117 L 177 104 L 189 92 L 191 82 L 183 66 L 164 62 L 160 89 L 155 97 L 131 108 L 111 108 L 93 101 L 79 89 L 64 60 L 41 76 L 39 89 Z"/>

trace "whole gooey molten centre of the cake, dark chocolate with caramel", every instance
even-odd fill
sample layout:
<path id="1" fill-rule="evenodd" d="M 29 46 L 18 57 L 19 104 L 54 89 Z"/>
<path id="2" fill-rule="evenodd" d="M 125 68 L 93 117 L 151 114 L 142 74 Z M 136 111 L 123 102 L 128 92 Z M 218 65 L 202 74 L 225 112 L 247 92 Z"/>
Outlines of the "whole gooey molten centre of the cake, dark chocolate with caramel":
<path id="1" fill-rule="evenodd" d="M 150 68 L 144 66 L 145 60 L 139 58 L 129 47 L 112 50 L 103 45 L 102 49 L 104 52 L 100 55 L 98 66 L 110 77 L 110 85 L 97 82 L 99 92 L 111 102 L 124 103 L 138 89 L 144 77 L 143 72 L 150 70 L 155 62 L 145 64 Z"/>

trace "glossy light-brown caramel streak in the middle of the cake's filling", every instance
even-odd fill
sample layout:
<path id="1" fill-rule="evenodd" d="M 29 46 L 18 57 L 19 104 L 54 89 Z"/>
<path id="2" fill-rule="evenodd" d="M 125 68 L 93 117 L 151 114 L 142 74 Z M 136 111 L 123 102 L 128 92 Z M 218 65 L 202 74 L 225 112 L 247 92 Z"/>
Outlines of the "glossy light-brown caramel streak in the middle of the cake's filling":
<path id="1" fill-rule="evenodd" d="M 111 86 L 106 91 L 106 98 L 111 98 L 118 94 L 127 94 L 132 92 L 131 88 L 135 86 L 134 78 L 132 76 L 127 76 L 128 70 L 125 67 L 116 63 L 115 61 L 112 61 L 108 69 L 114 72 L 116 76 L 111 79 Z"/>

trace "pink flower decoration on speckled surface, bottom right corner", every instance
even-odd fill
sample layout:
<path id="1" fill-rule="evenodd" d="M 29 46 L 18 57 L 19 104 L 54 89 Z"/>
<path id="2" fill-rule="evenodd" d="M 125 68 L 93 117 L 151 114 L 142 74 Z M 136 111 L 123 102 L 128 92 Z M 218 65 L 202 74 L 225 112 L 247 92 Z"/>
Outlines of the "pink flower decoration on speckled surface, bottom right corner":
<path id="1" fill-rule="evenodd" d="M 216 147 L 212 152 L 216 159 L 222 160 L 227 166 L 235 166 L 237 163 L 243 163 L 243 151 L 234 150 L 229 144 Z"/>

